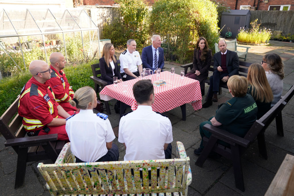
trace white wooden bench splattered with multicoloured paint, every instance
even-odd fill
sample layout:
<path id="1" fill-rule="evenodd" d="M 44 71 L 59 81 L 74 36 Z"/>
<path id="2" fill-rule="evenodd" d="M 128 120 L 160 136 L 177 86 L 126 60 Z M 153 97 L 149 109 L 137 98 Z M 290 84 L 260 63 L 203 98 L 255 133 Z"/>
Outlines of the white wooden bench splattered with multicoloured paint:
<path id="1" fill-rule="evenodd" d="M 67 143 L 55 164 L 39 163 L 38 169 L 51 195 L 152 193 L 154 196 L 159 193 L 170 196 L 187 195 L 192 181 L 189 163 L 181 142 L 177 142 L 177 158 L 174 159 L 96 163 L 75 163 L 70 143 Z"/>

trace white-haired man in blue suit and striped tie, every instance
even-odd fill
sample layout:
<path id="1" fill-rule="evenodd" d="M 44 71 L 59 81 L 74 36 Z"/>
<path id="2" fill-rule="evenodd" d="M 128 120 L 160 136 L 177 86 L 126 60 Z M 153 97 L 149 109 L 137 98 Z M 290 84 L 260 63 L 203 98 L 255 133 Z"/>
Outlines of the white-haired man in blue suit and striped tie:
<path id="1" fill-rule="evenodd" d="M 161 48 L 161 38 L 159 35 L 153 35 L 151 38 L 152 45 L 143 48 L 142 64 L 143 68 L 149 68 L 156 73 L 156 68 L 163 69 L 164 55 L 163 48 Z"/>

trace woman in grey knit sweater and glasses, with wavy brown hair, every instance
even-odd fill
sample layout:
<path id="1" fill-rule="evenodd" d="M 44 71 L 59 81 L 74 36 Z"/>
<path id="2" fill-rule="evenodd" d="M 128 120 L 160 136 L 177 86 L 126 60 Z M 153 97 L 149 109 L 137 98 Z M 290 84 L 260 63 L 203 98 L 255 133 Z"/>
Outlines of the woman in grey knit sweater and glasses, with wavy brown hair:
<path id="1" fill-rule="evenodd" d="M 270 107 L 273 107 L 282 96 L 284 65 L 281 57 L 277 54 L 266 54 L 263 56 L 261 65 L 265 70 L 266 78 L 273 91 L 274 99 L 270 105 Z"/>

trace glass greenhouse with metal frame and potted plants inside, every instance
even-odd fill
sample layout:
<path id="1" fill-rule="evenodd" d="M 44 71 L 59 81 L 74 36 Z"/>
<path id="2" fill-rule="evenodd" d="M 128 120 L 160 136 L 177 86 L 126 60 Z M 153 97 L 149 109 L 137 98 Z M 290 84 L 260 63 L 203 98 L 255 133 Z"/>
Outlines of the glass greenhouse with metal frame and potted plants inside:
<path id="1" fill-rule="evenodd" d="M 0 79 L 25 71 L 52 52 L 68 63 L 100 58 L 99 32 L 83 9 L 0 10 Z M 97 57 L 96 57 L 97 53 Z"/>

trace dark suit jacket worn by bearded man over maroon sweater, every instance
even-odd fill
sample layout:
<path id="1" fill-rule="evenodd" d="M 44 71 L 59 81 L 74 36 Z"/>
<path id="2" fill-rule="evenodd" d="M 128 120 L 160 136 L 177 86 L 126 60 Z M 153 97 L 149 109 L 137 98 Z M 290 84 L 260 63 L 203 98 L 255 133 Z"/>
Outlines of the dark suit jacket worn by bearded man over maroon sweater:
<path id="1" fill-rule="evenodd" d="M 218 66 L 221 66 L 221 53 L 220 51 L 213 55 L 213 69 L 218 70 Z M 239 57 L 234 51 L 227 50 L 226 65 L 228 69 L 228 75 L 239 74 Z"/>

